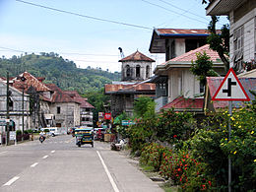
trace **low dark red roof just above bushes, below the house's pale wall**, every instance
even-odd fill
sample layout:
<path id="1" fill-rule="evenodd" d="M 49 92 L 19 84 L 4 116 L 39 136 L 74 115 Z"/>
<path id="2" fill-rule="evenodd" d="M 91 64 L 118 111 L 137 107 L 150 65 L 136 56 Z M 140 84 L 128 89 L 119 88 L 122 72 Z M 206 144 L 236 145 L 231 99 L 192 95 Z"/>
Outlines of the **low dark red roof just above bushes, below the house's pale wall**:
<path id="1" fill-rule="evenodd" d="M 174 110 L 202 110 L 203 111 L 204 98 L 184 98 L 178 96 L 171 102 L 165 104 L 161 108 L 174 108 Z"/>

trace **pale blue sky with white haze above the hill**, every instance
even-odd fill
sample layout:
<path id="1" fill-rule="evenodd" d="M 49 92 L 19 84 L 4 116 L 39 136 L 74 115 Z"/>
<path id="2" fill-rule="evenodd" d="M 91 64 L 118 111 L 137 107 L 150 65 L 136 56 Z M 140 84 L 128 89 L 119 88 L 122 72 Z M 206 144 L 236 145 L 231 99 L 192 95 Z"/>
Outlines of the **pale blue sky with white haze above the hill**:
<path id="1" fill-rule="evenodd" d="M 55 52 L 79 68 L 121 71 L 125 56 L 149 52 L 154 28 L 207 29 L 202 0 L 0 0 L 0 55 Z M 228 23 L 222 17 L 218 28 Z"/>

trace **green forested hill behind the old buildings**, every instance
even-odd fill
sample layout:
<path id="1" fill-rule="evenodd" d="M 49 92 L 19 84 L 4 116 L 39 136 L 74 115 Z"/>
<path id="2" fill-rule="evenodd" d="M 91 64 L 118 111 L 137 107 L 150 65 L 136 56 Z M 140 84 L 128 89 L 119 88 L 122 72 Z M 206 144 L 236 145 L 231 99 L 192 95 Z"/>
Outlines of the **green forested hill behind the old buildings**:
<path id="1" fill-rule="evenodd" d="M 109 73 L 101 69 L 88 67 L 77 68 L 73 61 L 62 58 L 56 53 L 27 54 L 13 56 L 10 59 L 0 58 L 0 76 L 15 77 L 25 71 L 34 77 L 44 77 L 44 83 L 56 84 L 62 90 L 76 90 L 79 93 L 88 93 L 103 88 L 104 84 L 119 81 L 120 73 Z"/>

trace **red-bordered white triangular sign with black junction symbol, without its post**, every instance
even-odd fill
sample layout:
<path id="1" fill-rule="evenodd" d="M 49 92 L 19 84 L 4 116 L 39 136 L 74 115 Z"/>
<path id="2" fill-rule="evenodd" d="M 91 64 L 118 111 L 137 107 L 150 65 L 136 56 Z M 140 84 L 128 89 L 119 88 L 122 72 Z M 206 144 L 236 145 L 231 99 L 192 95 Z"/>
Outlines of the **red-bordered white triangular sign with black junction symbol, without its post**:
<path id="1" fill-rule="evenodd" d="M 224 77 L 224 81 L 212 100 L 250 100 L 232 68 Z"/>

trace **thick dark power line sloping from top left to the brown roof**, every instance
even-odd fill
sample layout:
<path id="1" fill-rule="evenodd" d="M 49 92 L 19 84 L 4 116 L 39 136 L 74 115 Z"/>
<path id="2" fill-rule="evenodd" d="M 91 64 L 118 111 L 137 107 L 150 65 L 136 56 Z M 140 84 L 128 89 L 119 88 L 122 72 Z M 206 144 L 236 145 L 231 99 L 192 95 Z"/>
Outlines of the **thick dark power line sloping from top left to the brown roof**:
<path id="1" fill-rule="evenodd" d="M 28 4 L 28 5 L 32 5 L 32 6 L 35 6 L 35 7 L 40 7 L 40 8 L 48 9 L 48 10 L 51 10 L 51 11 L 70 14 L 70 15 L 74 15 L 74 16 L 79 16 L 79 17 L 82 17 L 82 18 L 88 18 L 88 19 L 92 19 L 92 20 L 96 20 L 96 21 L 100 21 L 100 22 L 108 22 L 108 23 L 112 23 L 112 24 L 129 26 L 129 27 L 133 27 L 133 28 L 140 28 L 140 29 L 144 29 L 144 30 L 153 30 L 153 28 L 138 26 L 138 25 L 134 25 L 134 24 L 127 24 L 127 23 L 122 23 L 122 22 L 116 22 L 116 21 L 113 21 L 113 20 L 106 20 L 106 19 L 96 18 L 96 17 L 88 16 L 88 15 L 82 15 L 82 14 L 78 14 L 78 13 L 74 13 L 74 12 L 70 12 L 70 11 L 60 10 L 60 9 L 56 9 L 56 8 L 52 8 L 52 7 L 47 7 L 47 6 L 31 3 L 31 2 L 28 2 L 28 1 L 22 1 L 22 0 L 16 0 L 16 1 Z"/>

